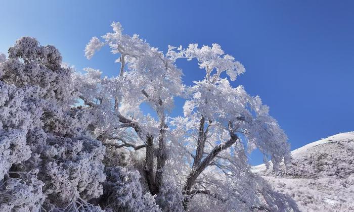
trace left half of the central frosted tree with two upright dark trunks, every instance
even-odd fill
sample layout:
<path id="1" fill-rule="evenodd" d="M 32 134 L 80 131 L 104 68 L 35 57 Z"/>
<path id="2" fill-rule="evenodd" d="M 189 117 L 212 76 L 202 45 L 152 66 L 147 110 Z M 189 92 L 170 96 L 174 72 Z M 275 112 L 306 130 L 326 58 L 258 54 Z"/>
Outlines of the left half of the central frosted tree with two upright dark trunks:
<path id="1" fill-rule="evenodd" d="M 182 71 L 176 68 L 172 59 L 138 35 L 122 34 L 119 23 L 113 23 L 112 27 L 114 33 L 104 35 L 104 42 L 92 38 L 85 54 L 91 58 L 96 50 L 109 45 L 113 54 L 120 54 L 116 61 L 121 63 L 119 76 L 101 79 L 99 71 L 86 69 L 86 75 L 77 77 L 77 93 L 93 113 L 98 112 L 98 120 L 110 120 L 104 125 L 102 122 L 93 124 L 99 139 L 103 142 L 118 140 L 120 147 L 145 148 L 144 170 L 149 190 L 154 195 L 159 193 L 163 183 L 167 160 L 167 112 L 173 107 L 173 97 L 184 91 Z M 142 103 L 156 111 L 157 119 L 144 115 L 140 110 Z M 127 128 L 133 129 L 138 138 L 131 139 L 134 136 L 131 134 L 124 138 Z M 140 141 L 141 145 L 128 143 L 126 139 Z"/>

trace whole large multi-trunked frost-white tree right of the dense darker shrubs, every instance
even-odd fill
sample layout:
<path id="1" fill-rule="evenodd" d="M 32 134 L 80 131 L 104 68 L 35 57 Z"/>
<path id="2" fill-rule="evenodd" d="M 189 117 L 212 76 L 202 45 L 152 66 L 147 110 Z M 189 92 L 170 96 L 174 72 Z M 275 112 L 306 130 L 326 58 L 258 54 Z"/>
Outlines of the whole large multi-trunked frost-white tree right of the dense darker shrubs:
<path id="1" fill-rule="evenodd" d="M 163 210 L 296 210 L 250 172 L 245 148 L 259 148 L 274 169 L 288 163 L 290 154 L 285 133 L 259 96 L 222 78 L 223 72 L 232 81 L 244 73 L 240 62 L 218 44 L 169 46 L 164 55 L 138 35 L 123 34 L 119 23 L 112 27 L 102 40 L 91 39 L 85 55 L 90 59 L 108 45 L 119 55 L 119 74 L 101 78 L 97 70 L 86 69 L 77 76 L 76 90 L 93 114 L 99 112 L 97 120 L 109 119 L 94 124 L 96 136 L 114 147 L 111 151 L 134 152 L 126 153 L 136 160 L 130 166 L 140 169 Z M 198 60 L 204 80 L 185 86 L 175 65 L 179 59 Z M 175 96 L 186 99 L 184 117 L 169 117 Z M 144 103 L 156 117 L 141 111 Z"/>

